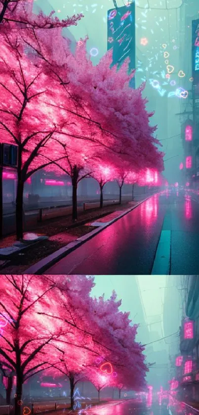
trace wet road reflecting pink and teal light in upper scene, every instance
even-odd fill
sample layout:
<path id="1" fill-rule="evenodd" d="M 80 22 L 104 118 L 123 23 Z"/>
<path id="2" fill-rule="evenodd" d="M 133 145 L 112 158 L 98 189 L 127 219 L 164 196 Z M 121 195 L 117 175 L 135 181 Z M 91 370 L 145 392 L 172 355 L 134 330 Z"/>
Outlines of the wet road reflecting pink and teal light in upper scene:
<path id="1" fill-rule="evenodd" d="M 199 202 L 184 191 L 152 196 L 45 274 L 149 275 L 161 231 L 170 234 L 168 274 L 198 274 Z M 158 274 L 165 274 L 165 270 L 159 269 Z"/>

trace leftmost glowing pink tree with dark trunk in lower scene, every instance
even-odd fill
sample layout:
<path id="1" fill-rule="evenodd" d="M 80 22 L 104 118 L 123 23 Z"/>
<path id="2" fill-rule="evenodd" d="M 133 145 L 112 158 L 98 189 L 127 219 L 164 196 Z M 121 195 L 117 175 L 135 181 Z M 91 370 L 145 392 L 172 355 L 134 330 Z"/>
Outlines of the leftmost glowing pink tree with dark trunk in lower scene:
<path id="1" fill-rule="evenodd" d="M 1 277 L 0 318 L 6 324 L 1 328 L 0 359 L 16 373 L 15 415 L 20 414 L 27 379 L 56 367 L 71 346 L 79 350 L 79 359 L 85 343 L 88 350 L 94 349 L 86 301 L 79 297 L 87 292 L 89 302 L 92 285 L 92 278 L 81 276 L 72 281 L 63 276 Z"/>

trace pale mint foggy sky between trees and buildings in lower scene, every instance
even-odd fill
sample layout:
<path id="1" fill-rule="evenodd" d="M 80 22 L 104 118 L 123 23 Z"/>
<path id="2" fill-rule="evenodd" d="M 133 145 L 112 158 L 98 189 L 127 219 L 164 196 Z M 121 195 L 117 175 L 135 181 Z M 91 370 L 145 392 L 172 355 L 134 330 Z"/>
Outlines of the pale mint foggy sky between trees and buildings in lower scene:
<path id="1" fill-rule="evenodd" d="M 120 310 L 129 311 L 132 323 L 139 324 L 136 340 L 147 345 L 146 362 L 154 364 L 147 381 L 156 391 L 167 389 L 179 353 L 183 276 L 95 276 L 95 284 L 93 296 L 104 293 L 107 299 L 114 289 L 122 299 Z"/>

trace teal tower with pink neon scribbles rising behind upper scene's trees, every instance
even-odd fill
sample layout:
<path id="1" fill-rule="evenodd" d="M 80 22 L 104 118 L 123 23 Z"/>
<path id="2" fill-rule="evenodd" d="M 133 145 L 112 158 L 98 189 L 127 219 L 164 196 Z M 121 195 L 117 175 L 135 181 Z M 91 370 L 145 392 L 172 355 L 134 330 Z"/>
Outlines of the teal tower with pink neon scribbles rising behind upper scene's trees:
<path id="1" fill-rule="evenodd" d="M 135 69 L 135 3 L 108 10 L 108 50 L 113 49 L 111 66 L 130 59 L 129 71 Z M 131 87 L 134 88 L 134 79 Z"/>

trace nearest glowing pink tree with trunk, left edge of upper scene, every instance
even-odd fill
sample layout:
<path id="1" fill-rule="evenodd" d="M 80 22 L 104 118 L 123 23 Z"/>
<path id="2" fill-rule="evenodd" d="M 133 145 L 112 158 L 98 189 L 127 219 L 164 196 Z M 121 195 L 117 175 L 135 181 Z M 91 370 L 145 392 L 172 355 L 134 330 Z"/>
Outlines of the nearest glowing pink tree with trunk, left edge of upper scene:
<path id="1" fill-rule="evenodd" d="M 23 237 L 23 189 L 36 171 L 60 158 L 52 152 L 55 129 L 52 111 L 43 101 L 49 79 L 36 67 L 20 44 L 0 35 L 0 142 L 18 147 L 16 231 Z M 48 160 L 45 154 L 49 154 Z"/>

